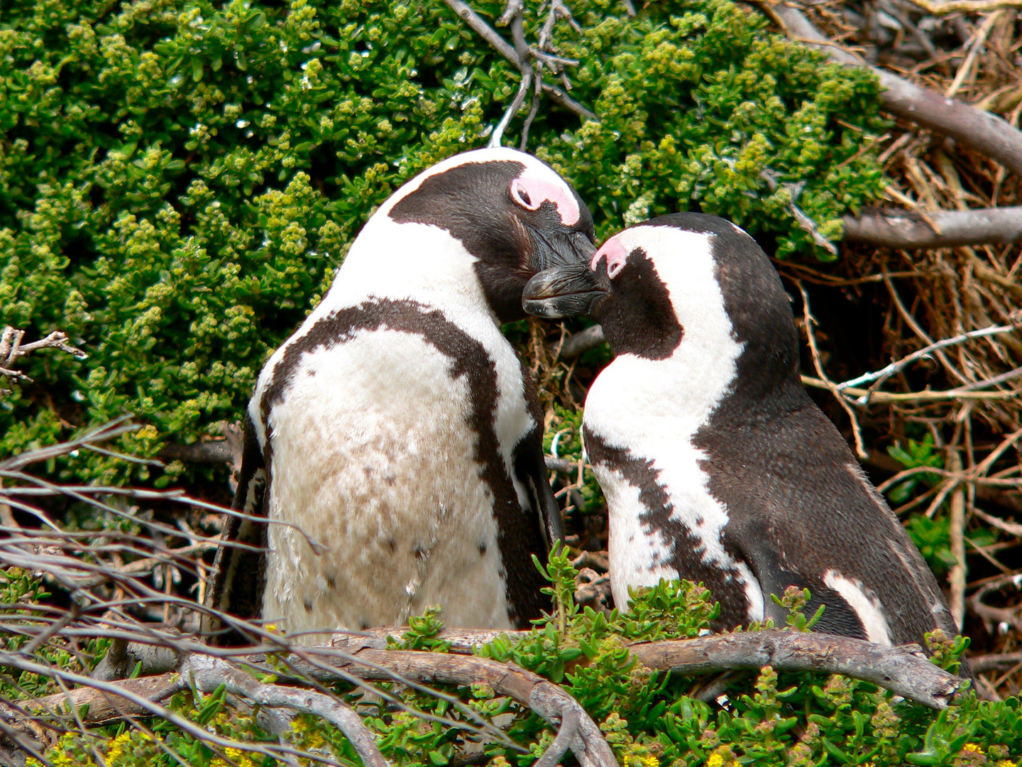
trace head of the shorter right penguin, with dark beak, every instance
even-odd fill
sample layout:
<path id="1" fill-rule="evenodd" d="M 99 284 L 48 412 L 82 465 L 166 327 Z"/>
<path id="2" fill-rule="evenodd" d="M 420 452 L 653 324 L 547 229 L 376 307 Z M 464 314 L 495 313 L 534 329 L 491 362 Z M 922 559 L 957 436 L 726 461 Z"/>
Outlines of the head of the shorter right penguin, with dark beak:
<path id="1" fill-rule="evenodd" d="M 777 271 L 752 237 L 716 216 L 672 214 L 625 229 L 585 268 L 536 275 L 522 303 L 542 317 L 593 317 L 616 355 L 667 359 L 682 344 L 737 342 L 746 364 L 786 378 L 798 372 L 797 331 Z"/>

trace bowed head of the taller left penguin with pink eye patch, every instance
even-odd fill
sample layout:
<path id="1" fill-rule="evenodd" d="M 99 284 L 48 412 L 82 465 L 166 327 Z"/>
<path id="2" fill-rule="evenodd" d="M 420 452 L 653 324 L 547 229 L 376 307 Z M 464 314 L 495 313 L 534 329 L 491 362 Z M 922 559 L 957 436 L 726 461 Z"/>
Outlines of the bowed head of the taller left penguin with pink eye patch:
<path id="1" fill-rule="evenodd" d="M 524 316 L 521 291 L 545 269 L 588 264 L 593 217 L 568 183 L 542 161 L 510 148 L 456 154 L 399 189 L 374 219 L 446 230 L 473 261 L 502 322 Z"/>

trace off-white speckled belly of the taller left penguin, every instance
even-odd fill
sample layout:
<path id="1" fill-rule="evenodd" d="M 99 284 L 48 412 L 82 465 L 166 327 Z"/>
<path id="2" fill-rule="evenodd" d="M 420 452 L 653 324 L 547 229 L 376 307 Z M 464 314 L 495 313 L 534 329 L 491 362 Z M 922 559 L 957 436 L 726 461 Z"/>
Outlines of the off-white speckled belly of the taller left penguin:
<path id="1" fill-rule="evenodd" d="M 472 392 L 451 370 L 423 336 L 385 329 L 303 355 L 270 416 L 268 512 L 325 550 L 270 526 L 265 619 L 360 629 L 439 604 L 451 626 L 510 625 Z M 498 427 L 508 465 L 531 425 L 518 384 Z"/>

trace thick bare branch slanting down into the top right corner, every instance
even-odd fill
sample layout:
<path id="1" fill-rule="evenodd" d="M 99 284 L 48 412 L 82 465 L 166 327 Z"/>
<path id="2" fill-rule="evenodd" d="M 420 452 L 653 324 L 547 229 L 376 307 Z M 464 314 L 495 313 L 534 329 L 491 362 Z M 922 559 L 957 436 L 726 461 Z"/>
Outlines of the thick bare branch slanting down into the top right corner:
<path id="1" fill-rule="evenodd" d="M 880 97 L 888 111 L 951 136 L 1008 170 L 1022 174 L 1022 133 L 1008 121 L 864 63 L 854 54 L 834 45 L 793 5 L 780 2 L 771 5 L 770 10 L 793 39 L 818 48 L 839 63 L 866 66 L 873 72 L 883 87 Z"/>

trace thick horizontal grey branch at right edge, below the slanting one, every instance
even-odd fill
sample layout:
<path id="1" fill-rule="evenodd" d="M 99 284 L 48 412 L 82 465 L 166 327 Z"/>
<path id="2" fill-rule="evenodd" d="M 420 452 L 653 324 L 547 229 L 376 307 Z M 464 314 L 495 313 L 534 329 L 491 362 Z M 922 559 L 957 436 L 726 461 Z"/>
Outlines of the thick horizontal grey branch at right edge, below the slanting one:
<path id="1" fill-rule="evenodd" d="M 844 239 L 907 250 L 1010 244 L 1022 240 L 1022 206 L 942 211 L 928 216 L 939 232 L 909 211 L 871 211 L 858 218 L 845 216 Z"/>

